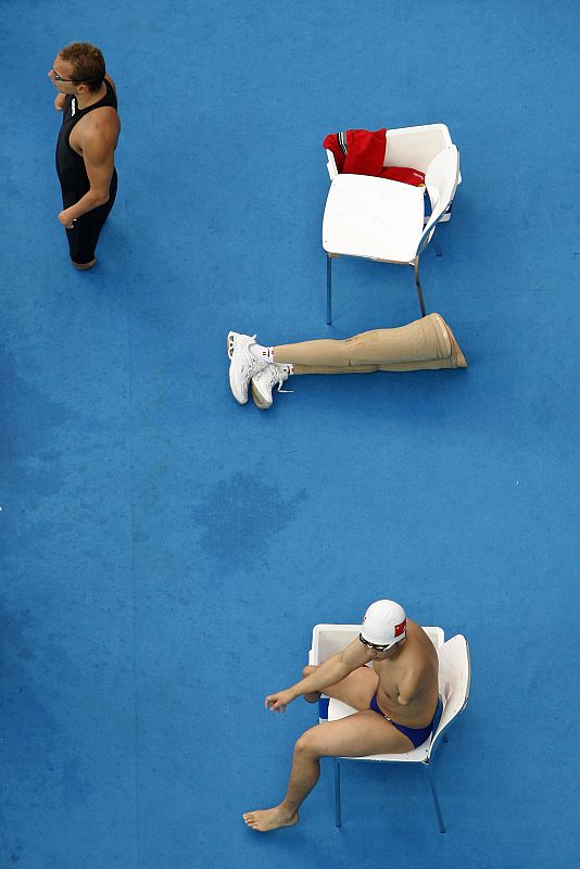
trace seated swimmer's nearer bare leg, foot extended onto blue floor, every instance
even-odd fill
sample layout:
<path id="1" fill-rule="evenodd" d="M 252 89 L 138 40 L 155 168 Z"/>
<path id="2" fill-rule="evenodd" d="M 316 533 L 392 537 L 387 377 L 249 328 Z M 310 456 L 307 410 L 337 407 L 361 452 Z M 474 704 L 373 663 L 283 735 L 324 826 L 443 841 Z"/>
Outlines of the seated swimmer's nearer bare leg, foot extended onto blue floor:
<path id="1" fill-rule="evenodd" d="M 413 747 L 411 740 L 375 711 L 366 709 L 339 721 L 328 721 L 306 730 L 294 746 L 288 791 L 274 808 L 247 811 L 248 827 L 266 833 L 299 821 L 299 808 L 320 774 L 320 757 L 402 753 Z"/>

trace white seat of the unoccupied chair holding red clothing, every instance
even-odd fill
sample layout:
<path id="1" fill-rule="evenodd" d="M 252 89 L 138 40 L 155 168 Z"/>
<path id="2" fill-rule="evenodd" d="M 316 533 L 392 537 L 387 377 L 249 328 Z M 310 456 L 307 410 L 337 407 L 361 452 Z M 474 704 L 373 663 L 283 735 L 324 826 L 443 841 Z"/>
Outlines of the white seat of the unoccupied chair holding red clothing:
<path id="1" fill-rule="evenodd" d="M 412 264 L 424 230 L 423 187 L 338 175 L 323 222 L 323 248 L 330 254 Z"/>

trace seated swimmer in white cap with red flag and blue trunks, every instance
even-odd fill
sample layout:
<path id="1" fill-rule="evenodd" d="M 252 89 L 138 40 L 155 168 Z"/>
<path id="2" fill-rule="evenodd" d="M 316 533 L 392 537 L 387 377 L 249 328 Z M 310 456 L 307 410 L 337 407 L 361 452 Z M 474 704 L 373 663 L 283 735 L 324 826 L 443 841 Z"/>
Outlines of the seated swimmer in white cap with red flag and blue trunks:
<path id="1" fill-rule="evenodd" d="M 373 662 L 373 667 L 365 665 Z M 306 730 L 294 746 L 288 790 L 274 808 L 248 811 L 245 823 L 267 832 L 299 820 L 299 808 L 320 772 L 320 757 L 402 754 L 421 745 L 437 727 L 439 660 L 423 628 L 394 601 L 377 601 L 366 610 L 361 633 L 318 667 L 304 667 L 292 688 L 266 697 L 266 708 L 285 711 L 301 694 L 316 703 L 320 692 L 357 711 Z"/>

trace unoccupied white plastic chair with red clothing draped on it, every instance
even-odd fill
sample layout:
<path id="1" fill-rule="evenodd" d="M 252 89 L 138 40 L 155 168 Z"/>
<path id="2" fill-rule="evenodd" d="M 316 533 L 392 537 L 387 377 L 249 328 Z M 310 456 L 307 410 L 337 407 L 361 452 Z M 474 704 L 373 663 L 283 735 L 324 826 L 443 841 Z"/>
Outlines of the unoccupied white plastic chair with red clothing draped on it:
<path id="1" fill-rule="evenodd" d="M 390 129 L 383 165 L 412 166 L 425 173 L 431 215 L 425 221 L 423 187 L 412 187 L 368 175 L 339 175 L 327 150 L 330 190 L 323 219 L 323 248 L 327 254 L 327 317 L 332 322 L 332 259 L 361 256 L 381 263 L 409 265 L 421 315 L 425 302 L 419 259 L 437 224 L 449 221 L 461 182 L 459 152 L 444 124 Z"/>

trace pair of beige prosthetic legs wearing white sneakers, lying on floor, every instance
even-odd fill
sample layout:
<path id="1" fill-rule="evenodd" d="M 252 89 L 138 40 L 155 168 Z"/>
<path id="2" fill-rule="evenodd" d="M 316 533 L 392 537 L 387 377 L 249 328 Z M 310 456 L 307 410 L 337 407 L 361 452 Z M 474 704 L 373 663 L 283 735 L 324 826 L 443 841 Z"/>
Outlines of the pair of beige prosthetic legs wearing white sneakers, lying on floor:
<path id="1" fill-rule="evenodd" d="M 440 314 L 407 326 L 374 329 L 343 341 L 320 339 L 297 344 L 262 347 L 255 335 L 229 332 L 229 386 L 240 404 L 252 396 L 257 407 L 272 407 L 272 390 L 292 374 L 417 371 L 426 368 L 467 368 L 453 332 Z"/>

